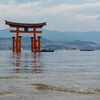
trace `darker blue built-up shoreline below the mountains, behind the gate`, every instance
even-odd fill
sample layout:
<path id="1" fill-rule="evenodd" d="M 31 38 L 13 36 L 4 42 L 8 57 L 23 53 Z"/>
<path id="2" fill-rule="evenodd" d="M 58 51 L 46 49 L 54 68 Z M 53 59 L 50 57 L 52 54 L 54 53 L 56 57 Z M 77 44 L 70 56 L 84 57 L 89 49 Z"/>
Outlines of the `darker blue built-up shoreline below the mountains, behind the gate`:
<path id="1" fill-rule="evenodd" d="M 42 49 L 52 49 L 52 50 L 100 50 L 100 44 L 90 42 L 90 41 L 51 41 L 45 38 L 41 39 Z M 29 37 L 22 38 L 22 49 L 30 50 L 31 43 Z M 0 38 L 0 50 L 12 50 L 12 38 Z"/>

